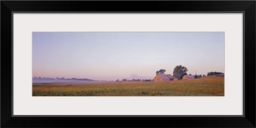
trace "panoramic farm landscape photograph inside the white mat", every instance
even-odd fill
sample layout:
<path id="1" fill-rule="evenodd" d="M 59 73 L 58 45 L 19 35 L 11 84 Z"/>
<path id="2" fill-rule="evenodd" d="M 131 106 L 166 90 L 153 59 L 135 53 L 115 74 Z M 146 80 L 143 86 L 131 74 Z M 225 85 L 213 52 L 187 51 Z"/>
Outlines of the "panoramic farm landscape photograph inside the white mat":
<path id="1" fill-rule="evenodd" d="M 224 96 L 224 32 L 33 32 L 33 96 Z"/>

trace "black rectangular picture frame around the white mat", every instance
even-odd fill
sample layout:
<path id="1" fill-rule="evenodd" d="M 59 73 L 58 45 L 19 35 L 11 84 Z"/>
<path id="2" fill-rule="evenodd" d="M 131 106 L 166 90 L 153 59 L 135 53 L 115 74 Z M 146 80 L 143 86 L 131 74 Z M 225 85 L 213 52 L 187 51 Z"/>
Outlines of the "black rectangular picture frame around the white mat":
<path id="1" fill-rule="evenodd" d="M 1 1 L 1 127 L 255 127 L 255 5 L 255 1 Z M 12 116 L 12 12 L 243 12 L 244 116 Z"/>

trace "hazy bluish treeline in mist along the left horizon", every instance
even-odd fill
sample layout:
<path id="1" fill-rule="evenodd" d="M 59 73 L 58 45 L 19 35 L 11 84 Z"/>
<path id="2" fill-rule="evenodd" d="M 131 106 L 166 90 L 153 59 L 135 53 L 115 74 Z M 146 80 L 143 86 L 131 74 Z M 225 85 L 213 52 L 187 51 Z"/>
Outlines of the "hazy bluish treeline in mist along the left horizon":
<path id="1" fill-rule="evenodd" d="M 65 77 L 33 77 L 33 81 L 94 81 L 93 79 L 86 79 L 86 78 L 65 78 Z"/>

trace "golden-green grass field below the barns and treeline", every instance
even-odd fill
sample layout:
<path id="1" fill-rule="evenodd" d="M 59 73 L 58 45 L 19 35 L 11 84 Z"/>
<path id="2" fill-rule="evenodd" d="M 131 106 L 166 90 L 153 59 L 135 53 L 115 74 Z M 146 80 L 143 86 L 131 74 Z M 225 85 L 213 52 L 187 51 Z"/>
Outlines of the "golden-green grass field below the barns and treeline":
<path id="1" fill-rule="evenodd" d="M 33 96 L 224 96 L 224 77 L 166 82 L 37 83 Z"/>

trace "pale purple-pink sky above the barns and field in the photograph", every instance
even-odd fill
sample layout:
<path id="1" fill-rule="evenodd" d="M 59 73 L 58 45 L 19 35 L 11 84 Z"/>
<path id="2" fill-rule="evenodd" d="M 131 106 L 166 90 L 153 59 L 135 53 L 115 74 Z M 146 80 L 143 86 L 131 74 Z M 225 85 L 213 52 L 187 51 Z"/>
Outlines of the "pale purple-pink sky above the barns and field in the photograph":
<path id="1" fill-rule="evenodd" d="M 33 77 L 95 80 L 154 79 L 173 74 L 224 72 L 224 35 L 173 32 L 33 32 Z"/>

